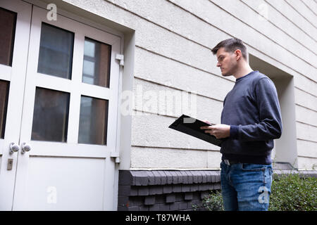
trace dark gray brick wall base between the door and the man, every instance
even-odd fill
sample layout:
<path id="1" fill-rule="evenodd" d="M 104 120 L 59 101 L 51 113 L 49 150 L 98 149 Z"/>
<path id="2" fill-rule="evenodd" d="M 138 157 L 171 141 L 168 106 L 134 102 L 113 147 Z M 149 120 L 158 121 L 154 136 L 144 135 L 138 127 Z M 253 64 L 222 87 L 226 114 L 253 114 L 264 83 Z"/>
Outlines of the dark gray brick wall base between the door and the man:
<path id="1" fill-rule="evenodd" d="M 218 170 L 120 170 L 118 211 L 194 210 L 210 190 L 220 190 Z"/>

